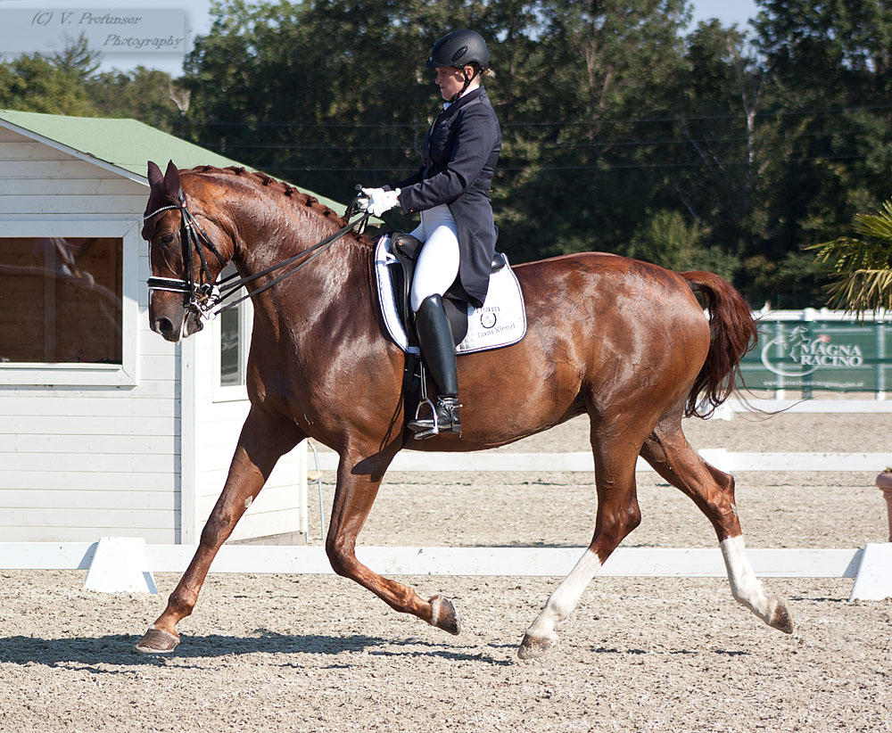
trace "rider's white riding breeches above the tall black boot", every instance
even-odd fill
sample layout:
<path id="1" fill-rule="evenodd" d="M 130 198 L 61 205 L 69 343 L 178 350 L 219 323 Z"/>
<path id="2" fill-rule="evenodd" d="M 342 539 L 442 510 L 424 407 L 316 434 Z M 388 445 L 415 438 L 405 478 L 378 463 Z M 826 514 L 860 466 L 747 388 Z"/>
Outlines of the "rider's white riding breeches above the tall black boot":
<path id="1" fill-rule="evenodd" d="M 431 295 L 449 290 L 458 276 L 458 227 L 446 204 L 421 212 L 421 224 L 412 236 L 424 242 L 412 280 L 412 311 Z"/>

